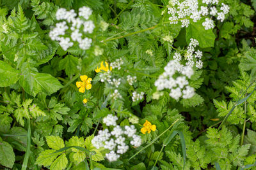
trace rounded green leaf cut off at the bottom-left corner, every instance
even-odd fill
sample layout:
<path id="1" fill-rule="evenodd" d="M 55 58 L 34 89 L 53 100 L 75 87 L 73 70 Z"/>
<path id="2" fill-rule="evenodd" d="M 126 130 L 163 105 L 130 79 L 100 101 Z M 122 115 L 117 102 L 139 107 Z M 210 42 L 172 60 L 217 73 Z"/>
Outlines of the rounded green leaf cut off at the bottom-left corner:
<path id="1" fill-rule="evenodd" d="M 5 142 L 0 142 L 0 164 L 6 167 L 12 168 L 15 162 L 15 154 L 13 152 L 12 146 Z"/>

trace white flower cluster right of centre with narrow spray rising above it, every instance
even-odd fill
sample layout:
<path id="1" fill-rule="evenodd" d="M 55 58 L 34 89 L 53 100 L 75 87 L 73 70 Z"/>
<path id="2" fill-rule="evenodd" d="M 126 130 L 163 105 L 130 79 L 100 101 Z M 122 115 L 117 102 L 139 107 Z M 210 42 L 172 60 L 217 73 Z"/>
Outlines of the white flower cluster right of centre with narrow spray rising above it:
<path id="1" fill-rule="evenodd" d="M 200 50 L 195 52 L 195 48 L 198 45 L 199 43 L 196 39 L 190 39 L 188 49 L 184 55 L 184 60 L 186 60 L 185 66 L 180 63 L 182 60 L 180 53 L 174 53 L 173 60 L 168 62 L 167 66 L 164 67 L 164 73 L 155 81 L 157 90 L 170 89 L 169 95 L 176 100 L 180 97 L 189 99 L 194 96 L 195 89 L 189 86 L 188 79 L 194 74 L 194 65 L 198 69 L 201 69 L 203 66 L 203 62 L 200 60 L 202 59 L 203 53 Z M 177 72 L 179 76 L 173 78 L 173 75 Z"/>

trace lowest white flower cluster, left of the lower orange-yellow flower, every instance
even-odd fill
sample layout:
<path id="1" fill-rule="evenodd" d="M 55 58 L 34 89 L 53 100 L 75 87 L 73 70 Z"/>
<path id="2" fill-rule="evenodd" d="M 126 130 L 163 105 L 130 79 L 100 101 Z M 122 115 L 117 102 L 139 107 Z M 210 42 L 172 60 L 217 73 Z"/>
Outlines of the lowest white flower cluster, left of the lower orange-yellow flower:
<path id="1" fill-rule="evenodd" d="M 116 161 L 120 155 L 129 150 L 129 140 L 130 144 L 134 147 L 141 145 L 141 138 L 136 135 L 134 125 L 125 125 L 123 128 L 116 125 L 116 120 L 117 117 L 113 115 L 108 115 L 103 118 L 104 124 L 114 126 L 113 131 L 109 132 L 108 129 L 104 131 L 100 130 L 98 135 L 92 139 L 92 145 L 95 146 L 95 148 L 106 148 L 109 150 L 109 153 L 106 153 L 106 158 L 109 162 Z"/>

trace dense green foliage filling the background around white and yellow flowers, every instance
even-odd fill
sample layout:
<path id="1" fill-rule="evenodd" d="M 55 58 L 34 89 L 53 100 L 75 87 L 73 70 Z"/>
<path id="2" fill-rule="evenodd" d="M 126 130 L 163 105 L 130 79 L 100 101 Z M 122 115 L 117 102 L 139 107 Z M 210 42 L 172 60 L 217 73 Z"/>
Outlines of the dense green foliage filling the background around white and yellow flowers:
<path id="1" fill-rule="evenodd" d="M 256 1 L 221 3 L 225 21 L 205 30 L 203 19 L 170 24 L 168 0 L 0 1 L 0 169 L 256 169 Z M 93 10 L 92 46 L 63 50 L 49 36 L 56 11 L 83 6 Z M 188 80 L 193 97 L 176 100 L 155 81 L 191 38 L 204 64 Z M 95 69 L 118 59 L 120 85 L 102 82 Z M 81 75 L 92 78 L 84 93 Z M 142 139 L 113 162 L 92 143 L 109 114 Z M 146 120 L 156 131 L 141 133 Z"/>

